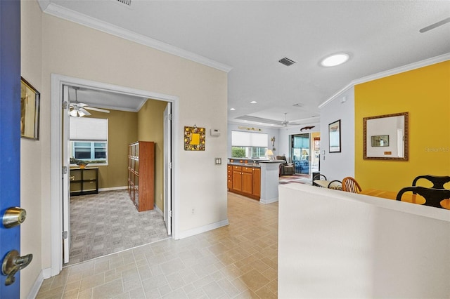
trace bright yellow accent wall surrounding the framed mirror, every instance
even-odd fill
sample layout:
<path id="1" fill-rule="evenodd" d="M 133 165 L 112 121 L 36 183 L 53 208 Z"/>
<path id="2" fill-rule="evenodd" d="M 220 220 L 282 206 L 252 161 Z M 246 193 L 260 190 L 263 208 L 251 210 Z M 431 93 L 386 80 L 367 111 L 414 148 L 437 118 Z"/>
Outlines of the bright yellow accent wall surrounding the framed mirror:
<path id="1" fill-rule="evenodd" d="M 417 175 L 450 175 L 450 61 L 366 82 L 355 92 L 355 178 L 398 191 Z M 363 159 L 363 119 L 409 112 L 409 161 Z"/>

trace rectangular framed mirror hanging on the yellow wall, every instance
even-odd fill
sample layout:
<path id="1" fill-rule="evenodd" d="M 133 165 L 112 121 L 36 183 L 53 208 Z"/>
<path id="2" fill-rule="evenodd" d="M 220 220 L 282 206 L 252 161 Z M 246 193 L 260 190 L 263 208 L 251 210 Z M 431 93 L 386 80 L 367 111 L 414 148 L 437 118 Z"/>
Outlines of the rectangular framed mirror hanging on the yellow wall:
<path id="1" fill-rule="evenodd" d="M 364 159 L 408 160 L 408 112 L 364 117 Z"/>

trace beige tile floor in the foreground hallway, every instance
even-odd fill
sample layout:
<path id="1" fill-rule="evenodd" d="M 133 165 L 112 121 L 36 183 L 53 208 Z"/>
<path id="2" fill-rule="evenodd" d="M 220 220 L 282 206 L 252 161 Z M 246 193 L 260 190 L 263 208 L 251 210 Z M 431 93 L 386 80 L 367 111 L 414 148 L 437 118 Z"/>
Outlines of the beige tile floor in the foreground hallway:
<path id="1" fill-rule="evenodd" d="M 277 298 L 278 203 L 228 208 L 226 227 L 65 267 L 37 298 Z"/>

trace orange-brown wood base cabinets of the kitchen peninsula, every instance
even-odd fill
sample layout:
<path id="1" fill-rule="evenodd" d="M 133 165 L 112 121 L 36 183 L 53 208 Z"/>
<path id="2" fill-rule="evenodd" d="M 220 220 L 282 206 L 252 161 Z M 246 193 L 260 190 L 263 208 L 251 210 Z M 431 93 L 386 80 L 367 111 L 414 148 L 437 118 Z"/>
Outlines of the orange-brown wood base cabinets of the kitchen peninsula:
<path id="1" fill-rule="evenodd" d="M 252 199 L 261 197 L 261 169 L 257 166 L 228 165 L 227 187 L 230 192 Z"/>

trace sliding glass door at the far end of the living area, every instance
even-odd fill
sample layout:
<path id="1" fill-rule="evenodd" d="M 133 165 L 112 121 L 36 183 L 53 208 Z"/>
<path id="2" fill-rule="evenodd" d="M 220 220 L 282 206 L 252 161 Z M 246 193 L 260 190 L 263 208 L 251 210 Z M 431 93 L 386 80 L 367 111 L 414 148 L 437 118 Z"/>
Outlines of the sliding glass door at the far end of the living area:
<path id="1" fill-rule="evenodd" d="M 310 173 L 309 166 L 309 134 L 295 134 L 290 135 L 291 152 L 290 157 L 293 158 L 295 165 L 295 173 L 308 174 Z"/>

